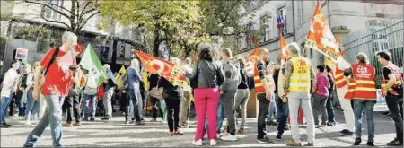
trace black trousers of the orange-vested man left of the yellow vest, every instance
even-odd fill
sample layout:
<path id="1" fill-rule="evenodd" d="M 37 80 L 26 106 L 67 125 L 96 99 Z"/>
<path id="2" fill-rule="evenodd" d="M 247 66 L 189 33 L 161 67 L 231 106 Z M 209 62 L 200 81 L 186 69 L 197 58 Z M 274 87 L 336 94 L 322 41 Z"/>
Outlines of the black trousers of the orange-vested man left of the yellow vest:
<path id="1" fill-rule="evenodd" d="M 257 100 L 259 100 L 259 115 L 257 121 L 258 135 L 257 139 L 263 139 L 267 135 L 267 125 L 265 124 L 265 118 L 268 115 L 269 100 L 266 98 L 265 93 L 258 93 Z"/>

